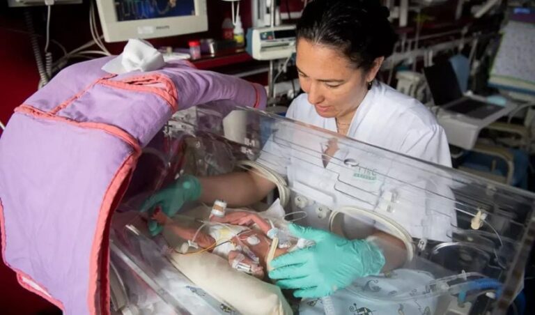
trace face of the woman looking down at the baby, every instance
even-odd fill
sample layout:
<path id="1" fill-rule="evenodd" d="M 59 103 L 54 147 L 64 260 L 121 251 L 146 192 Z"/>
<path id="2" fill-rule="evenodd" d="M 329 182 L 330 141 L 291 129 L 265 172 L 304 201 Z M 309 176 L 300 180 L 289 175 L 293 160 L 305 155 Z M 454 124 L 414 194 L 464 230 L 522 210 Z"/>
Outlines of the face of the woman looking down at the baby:
<path id="1" fill-rule="evenodd" d="M 332 47 L 305 39 L 297 42 L 296 65 L 301 88 L 308 93 L 316 112 L 325 118 L 341 118 L 355 112 L 366 95 L 367 82 L 373 80 L 380 63 L 382 58 L 366 74 Z"/>

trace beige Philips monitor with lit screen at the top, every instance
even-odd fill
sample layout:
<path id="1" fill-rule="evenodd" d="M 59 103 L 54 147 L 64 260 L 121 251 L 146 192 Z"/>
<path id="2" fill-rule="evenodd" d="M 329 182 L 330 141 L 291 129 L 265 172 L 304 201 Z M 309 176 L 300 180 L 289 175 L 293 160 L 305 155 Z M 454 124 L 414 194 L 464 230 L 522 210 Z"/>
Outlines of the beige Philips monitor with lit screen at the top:
<path id="1" fill-rule="evenodd" d="M 104 40 L 208 31 L 206 0 L 97 0 Z"/>

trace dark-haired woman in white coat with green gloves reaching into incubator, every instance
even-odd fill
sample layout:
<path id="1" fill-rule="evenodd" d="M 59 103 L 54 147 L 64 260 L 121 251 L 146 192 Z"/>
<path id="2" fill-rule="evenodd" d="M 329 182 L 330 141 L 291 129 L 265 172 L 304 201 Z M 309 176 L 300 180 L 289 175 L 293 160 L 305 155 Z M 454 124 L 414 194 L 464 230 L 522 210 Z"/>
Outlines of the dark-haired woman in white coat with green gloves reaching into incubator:
<path id="1" fill-rule="evenodd" d="M 374 146 L 451 167 L 444 130 L 420 102 L 375 80 L 393 51 L 396 33 L 378 0 L 314 0 L 297 23 L 296 66 L 304 94 L 287 116 Z M 331 152 L 331 151 L 333 152 Z M 335 146 L 327 148 L 334 155 Z M 324 161 L 325 167 L 328 161 Z M 291 185 L 291 183 L 290 183 Z M 225 199 L 246 206 L 275 185 L 253 172 L 196 178 L 182 176 L 150 197 L 144 210 L 161 206 L 173 215 L 187 201 Z M 409 214 L 408 214 L 409 215 Z M 150 231 L 159 233 L 151 222 Z M 355 228 L 357 229 L 357 228 Z M 316 245 L 272 261 L 272 279 L 294 295 L 316 298 L 348 286 L 358 277 L 401 266 L 401 240 L 378 230 L 348 240 L 327 231 L 290 225 L 295 236 Z"/>

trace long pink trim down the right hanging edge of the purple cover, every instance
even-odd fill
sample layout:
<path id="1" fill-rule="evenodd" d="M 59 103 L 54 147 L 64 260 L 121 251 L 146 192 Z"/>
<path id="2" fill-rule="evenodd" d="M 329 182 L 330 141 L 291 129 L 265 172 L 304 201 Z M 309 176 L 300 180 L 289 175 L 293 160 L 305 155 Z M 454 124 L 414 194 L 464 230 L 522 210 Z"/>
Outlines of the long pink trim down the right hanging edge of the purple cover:
<path id="1" fill-rule="evenodd" d="M 91 314 L 99 314 L 95 305 L 95 298 L 100 298 L 100 314 L 109 314 L 109 224 L 111 222 L 111 212 L 116 206 L 115 202 L 121 200 L 125 193 L 125 184 L 130 182 L 130 175 L 136 166 L 140 153 L 135 152 L 129 155 L 121 167 L 116 171 L 111 180 L 102 204 L 100 206 L 93 245 L 91 246 L 91 261 L 89 262 L 89 289 L 87 302 Z M 121 191 L 122 190 L 122 191 Z M 115 202 L 114 202 L 115 201 Z M 100 247 L 102 245 L 102 247 Z M 102 255 L 102 256 L 101 256 Z M 100 258 L 100 260 L 99 260 Z M 100 263 L 100 265 L 99 265 Z M 100 268 L 99 268 L 100 267 Z M 99 281 L 99 270 L 101 270 Z M 100 297 L 97 296 L 100 284 Z"/>

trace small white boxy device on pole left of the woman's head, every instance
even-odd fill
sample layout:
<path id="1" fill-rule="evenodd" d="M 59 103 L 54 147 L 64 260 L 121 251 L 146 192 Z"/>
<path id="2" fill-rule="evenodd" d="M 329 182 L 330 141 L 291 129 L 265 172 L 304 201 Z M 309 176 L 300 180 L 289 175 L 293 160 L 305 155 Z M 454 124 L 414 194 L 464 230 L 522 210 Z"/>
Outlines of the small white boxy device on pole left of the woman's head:
<path id="1" fill-rule="evenodd" d="M 288 58 L 295 52 L 295 25 L 249 29 L 247 52 L 256 60 Z"/>

